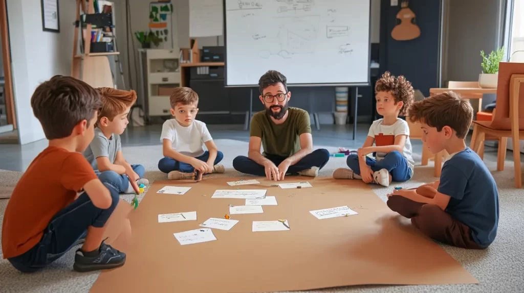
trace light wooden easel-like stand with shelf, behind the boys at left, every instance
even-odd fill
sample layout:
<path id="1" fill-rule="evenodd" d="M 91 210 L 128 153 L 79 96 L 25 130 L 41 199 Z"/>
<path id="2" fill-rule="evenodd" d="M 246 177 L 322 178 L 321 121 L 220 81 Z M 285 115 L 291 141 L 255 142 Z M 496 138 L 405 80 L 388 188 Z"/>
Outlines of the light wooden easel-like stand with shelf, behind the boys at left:
<path id="1" fill-rule="evenodd" d="M 86 24 L 86 30 L 83 31 L 80 11 L 87 11 L 87 14 L 94 14 L 94 1 L 77 0 L 77 18 L 74 28 L 73 40 L 73 62 L 71 63 L 71 76 L 85 81 L 90 86 L 97 87 L 115 87 L 111 66 L 107 56 L 118 55 L 119 52 L 91 53 L 91 30 L 93 26 Z M 114 8 L 114 7 L 113 7 Z M 83 54 L 78 52 L 79 32 L 82 34 L 82 44 L 84 46 Z M 115 37 L 115 36 L 113 36 Z M 116 49 L 116 45 L 115 45 Z"/>

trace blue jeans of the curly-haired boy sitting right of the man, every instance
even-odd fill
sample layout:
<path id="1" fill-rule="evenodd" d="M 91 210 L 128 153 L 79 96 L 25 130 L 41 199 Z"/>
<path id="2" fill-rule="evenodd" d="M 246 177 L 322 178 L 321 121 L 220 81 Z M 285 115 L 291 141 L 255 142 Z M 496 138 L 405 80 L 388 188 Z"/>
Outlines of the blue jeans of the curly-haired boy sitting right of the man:
<path id="1" fill-rule="evenodd" d="M 357 155 L 349 155 L 347 157 L 347 166 L 357 175 L 360 175 L 360 164 Z M 413 175 L 408 165 L 408 160 L 399 151 L 391 151 L 384 159 L 377 161 L 366 156 L 366 165 L 371 168 L 373 172 L 381 169 L 388 170 L 391 174 L 391 180 L 396 182 L 408 181 Z"/>

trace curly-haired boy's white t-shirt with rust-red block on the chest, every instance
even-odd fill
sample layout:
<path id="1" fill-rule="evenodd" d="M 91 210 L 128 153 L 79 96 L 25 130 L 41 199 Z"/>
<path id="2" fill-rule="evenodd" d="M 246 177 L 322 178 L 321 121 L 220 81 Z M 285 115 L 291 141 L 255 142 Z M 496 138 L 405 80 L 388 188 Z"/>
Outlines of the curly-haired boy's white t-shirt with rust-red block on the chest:
<path id="1" fill-rule="evenodd" d="M 383 119 L 374 121 L 371 127 L 369 127 L 369 133 L 367 134 L 367 136 L 371 136 L 375 138 L 376 146 L 387 146 L 387 145 L 395 144 L 395 137 L 397 135 L 407 135 L 408 137 L 406 138 L 406 144 L 404 145 L 404 149 L 402 150 L 402 155 L 408 161 L 409 169 L 411 169 L 411 174 L 413 174 L 415 161 L 413 160 L 413 157 L 411 156 L 412 148 L 411 148 L 411 142 L 409 140 L 408 122 L 400 118 L 397 118 L 397 122 L 395 122 L 392 125 L 382 125 L 382 121 Z M 376 154 L 377 161 L 384 159 L 386 155 L 387 154 L 385 153 L 377 153 Z"/>

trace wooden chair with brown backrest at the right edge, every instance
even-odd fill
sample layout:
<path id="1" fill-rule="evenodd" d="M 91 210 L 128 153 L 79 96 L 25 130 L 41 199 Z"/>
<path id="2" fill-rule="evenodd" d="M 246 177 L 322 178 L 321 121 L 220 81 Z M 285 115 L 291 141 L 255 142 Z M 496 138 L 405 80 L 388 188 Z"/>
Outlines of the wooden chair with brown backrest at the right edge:
<path id="1" fill-rule="evenodd" d="M 507 138 L 513 143 L 515 166 L 515 186 L 522 187 L 520 164 L 520 139 L 524 138 L 524 63 L 500 62 L 497 86 L 497 111 L 493 120 L 473 121 L 472 149 L 482 154 L 486 135 L 501 138 L 499 140 L 497 170 L 504 169 Z M 523 113 L 519 115 L 519 113 Z"/>

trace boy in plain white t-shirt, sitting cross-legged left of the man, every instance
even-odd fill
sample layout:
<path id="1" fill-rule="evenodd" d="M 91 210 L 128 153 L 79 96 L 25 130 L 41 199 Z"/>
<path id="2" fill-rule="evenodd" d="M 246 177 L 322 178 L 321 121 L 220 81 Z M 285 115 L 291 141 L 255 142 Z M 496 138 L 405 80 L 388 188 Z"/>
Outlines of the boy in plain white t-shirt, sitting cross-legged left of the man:
<path id="1" fill-rule="evenodd" d="M 164 157 L 158 162 L 158 169 L 168 173 L 169 180 L 192 178 L 195 170 L 198 180 L 205 173 L 224 173 L 224 166 L 216 165 L 224 155 L 217 150 L 205 123 L 194 120 L 198 112 L 196 92 L 178 87 L 169 100 L 174 119 L 162 126 L 160 140 Z M 204 144 L 208 150 L 204 150 Z"/>

